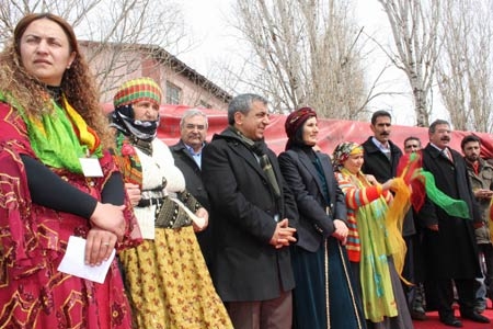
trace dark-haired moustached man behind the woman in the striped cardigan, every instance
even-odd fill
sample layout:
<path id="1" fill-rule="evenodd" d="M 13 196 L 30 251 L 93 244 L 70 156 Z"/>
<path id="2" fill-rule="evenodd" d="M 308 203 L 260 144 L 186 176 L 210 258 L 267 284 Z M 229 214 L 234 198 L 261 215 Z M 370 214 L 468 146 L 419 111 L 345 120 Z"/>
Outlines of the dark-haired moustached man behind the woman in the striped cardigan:
<path id="1" fill-rule="evenodd" d="M 383 184 L 388 180 L 397 177 L 399 160 L 402 157 L 401 149 L 390 140 L 390 133 L 392 131 L 391 115 L 389 112 L 380 110 L 371 115 L 370 128 L 374 136 L 362 144 L 364 152 L 364 163 L 362 171 L 366 174 L 372 174 L 375 179 Z M 414 227 L 414 219 L 412 211 L 409 211 L 404 217 L 402 225 L 402 237 L 405 241 L 408 250 L 413 250 L 416 239 L 416 230 Z M 412 252 L 405 253 L 404 269 L 402 276 L 409 282 L 415 281 L 415 269 Z M 404 292 L 408 298 L 408 306 L 413 319 L 423 320 L 426 318 L 424 311 L 414 309 L 413 304 L 415 299 L 415 287 L 413 285 L 404 285 Z"/>

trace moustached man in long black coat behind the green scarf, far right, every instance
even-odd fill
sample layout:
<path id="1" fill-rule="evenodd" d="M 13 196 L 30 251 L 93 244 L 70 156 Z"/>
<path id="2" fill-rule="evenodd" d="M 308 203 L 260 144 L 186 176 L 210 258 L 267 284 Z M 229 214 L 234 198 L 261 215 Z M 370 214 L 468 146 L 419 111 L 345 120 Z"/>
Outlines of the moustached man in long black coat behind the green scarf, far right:
<path id="1" fill-rule="evenodd" d="M 423 169 L 431 172 L 436 186 L 455 200 L 462 200 L 469 208 L 469 218 L 448 213 L 426 198 L 419 213 L 424 226 L 423 243 L 428 280 L 436 286 L 440 321 L 462 327 L 455 317 L 454 288 L 459 296 L 460 316 L 477 322 L 490 320 L 474 311 L 474 279 L 481 274 L 473 222 L 481 222 L 461 155 L 448 147 L 450 125 L 437 120 L 428 129 L 429 143 L 422 151 Z M 471 220 L 472 219 L 472 220 Z"/>

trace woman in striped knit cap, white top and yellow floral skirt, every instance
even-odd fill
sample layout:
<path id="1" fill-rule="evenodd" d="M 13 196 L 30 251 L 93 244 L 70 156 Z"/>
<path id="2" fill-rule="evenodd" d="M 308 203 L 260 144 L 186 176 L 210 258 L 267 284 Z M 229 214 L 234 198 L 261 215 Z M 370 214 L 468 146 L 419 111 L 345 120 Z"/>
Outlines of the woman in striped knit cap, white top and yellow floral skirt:
<path id="1" fill-rule="evenodd" d="M 157 137 L 161 89 L 150 78 L 114 97 L 115 159 L 144 242 L 121 254 L 137 328 L 232 328 L 210 280 L 195 231 L 207 211 L 185 189 L 168 146 Z"/>

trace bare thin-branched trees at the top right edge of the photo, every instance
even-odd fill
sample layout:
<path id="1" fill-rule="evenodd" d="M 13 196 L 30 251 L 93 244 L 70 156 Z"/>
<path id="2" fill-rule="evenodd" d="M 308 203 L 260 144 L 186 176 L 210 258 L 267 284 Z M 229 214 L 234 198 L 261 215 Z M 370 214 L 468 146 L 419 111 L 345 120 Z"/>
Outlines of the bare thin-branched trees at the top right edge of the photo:
<path id="1" fill-rule="evenodd" d="M 444 5 L 443 56 L 437 82 L 454 126 L 492 132 L 493 1 L 463 0 Z"/>

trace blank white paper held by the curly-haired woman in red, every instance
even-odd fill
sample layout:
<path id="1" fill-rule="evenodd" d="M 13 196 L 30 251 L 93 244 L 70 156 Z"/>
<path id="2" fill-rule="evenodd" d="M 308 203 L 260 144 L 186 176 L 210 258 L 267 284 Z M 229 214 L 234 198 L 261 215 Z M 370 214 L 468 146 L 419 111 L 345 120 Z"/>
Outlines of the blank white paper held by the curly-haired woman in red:
<path id="1" fill-rule="evenodd" d="M 115 258 L 115 249 L 107 261 L 103 261 L 99 266 L 90 266 L 84 263 L 85 239 L 71 236 L 68 241 L 67 251 L 58 266 L 58 271 L 88 279 L 98 283 L 103 283 L 110 265 Z"/>

